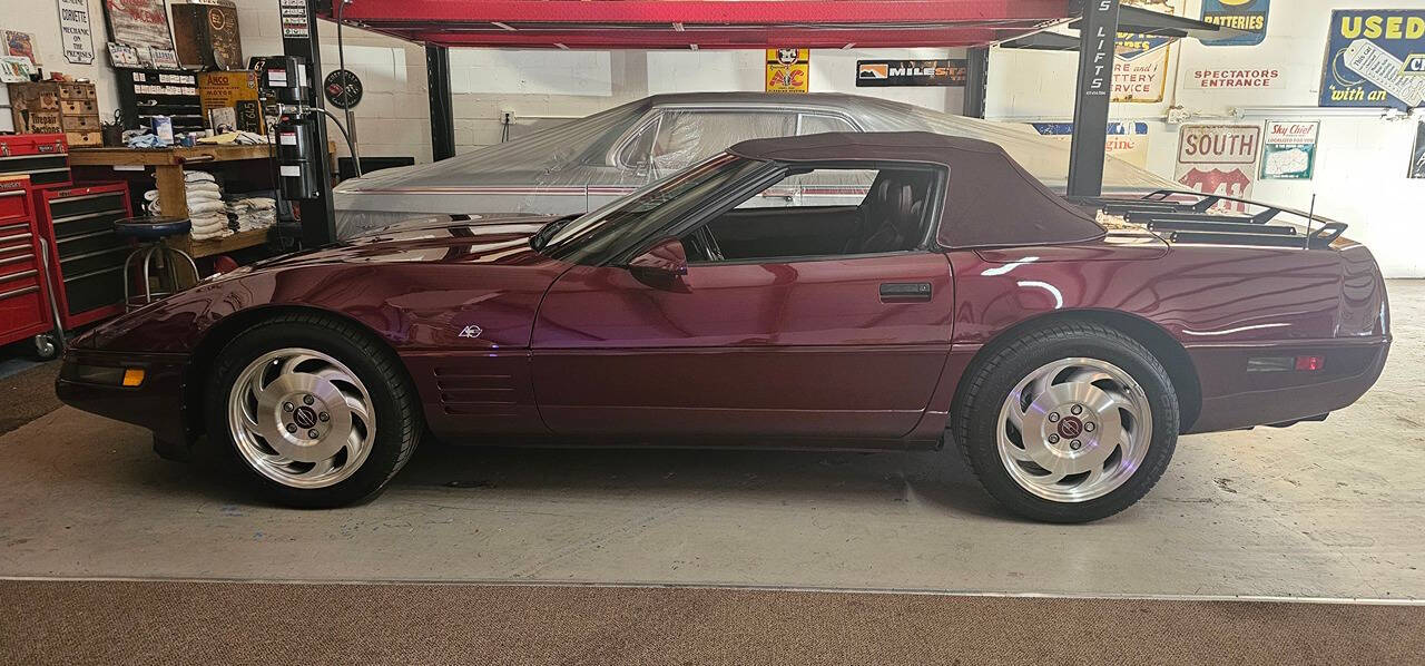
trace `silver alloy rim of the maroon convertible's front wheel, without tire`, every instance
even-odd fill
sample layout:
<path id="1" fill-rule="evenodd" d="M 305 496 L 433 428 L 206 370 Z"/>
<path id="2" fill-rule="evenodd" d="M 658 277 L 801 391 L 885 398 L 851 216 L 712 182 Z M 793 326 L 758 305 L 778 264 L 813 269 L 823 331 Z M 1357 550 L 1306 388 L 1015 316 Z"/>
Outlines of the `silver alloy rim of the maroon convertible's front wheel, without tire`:
<path id="1" fill-rule="evenodd" d="M 319 351 L 258 357 L 228 394 L 228 431 L 242 458 L 291 488 L 346 479 L 376 436 L 370 394 L 356 374 Z"/>

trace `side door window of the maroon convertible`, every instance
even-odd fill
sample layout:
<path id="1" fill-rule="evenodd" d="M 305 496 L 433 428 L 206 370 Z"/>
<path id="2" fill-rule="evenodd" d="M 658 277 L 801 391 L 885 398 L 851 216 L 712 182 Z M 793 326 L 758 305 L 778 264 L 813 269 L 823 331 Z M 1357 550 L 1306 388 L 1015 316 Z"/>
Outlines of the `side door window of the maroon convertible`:
<path id="1" fill-rule="evenodd" d="M 798 170 L 685 234 L 684 247 L 690 261 L 704 264 L 912 251 L 931 224 L 936 174 L 922 168 Z M 839 200 L 817 198 L 818 185 L 811 183 L 836 184 L 825 190 L 835 187 Z"/>

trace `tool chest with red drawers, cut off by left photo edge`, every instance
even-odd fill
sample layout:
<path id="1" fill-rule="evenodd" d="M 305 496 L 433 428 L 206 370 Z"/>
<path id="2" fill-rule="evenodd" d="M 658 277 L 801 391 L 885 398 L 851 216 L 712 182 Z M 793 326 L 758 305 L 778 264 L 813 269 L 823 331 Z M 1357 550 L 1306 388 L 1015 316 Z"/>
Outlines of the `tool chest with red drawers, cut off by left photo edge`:
<path id="1" fill-rule="evenodd" d="M 0 175 L 0 344 L 48 334 L 51 312 L 30 180 Z"/>

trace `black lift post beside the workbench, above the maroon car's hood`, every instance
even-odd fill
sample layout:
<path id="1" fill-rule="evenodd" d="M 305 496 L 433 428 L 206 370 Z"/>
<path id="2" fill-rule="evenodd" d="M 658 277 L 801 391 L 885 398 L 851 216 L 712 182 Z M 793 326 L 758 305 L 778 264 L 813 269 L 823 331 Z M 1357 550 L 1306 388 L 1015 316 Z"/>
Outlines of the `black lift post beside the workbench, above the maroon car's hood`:
<path id="1" fill-rule="evenodd" d="M 279 3 L 281 11 L 296 10 L 291 7 L 289 3 Z M 295 4 L 295 3 L 294 3 Z M 318 4 L 323 10 L 329 10 L 329 1 L 323 3 L 304 3 L 306 13 L 306 34 L 289 34 L 288 26 L 299 23 L 289 23 L 286 17 L 282 20 L 282 54 L 284 56 L 299 56 L 306 60 L 311 68 L 312 86 L 308 87 L 308 100 L 304 103 L 309 107 L 322 107 L 322 47 L 318 41 L 316 34 L 316 17 L 321 16 L 318 11 Z M 294 17 L 295 19 L 295 17 Z M 321 195 L 318 198 L 302 200 L 298 203 L 302 211 L 302 247 L 314 248 L 326 245 L 336 240 L 336 214 L 332 210 L 332 161 L 326 154 L 326 120 L 319 120 L 316 123 L 316 141 L 312 141 L 315 150 L 321 151 L 321 155 L 314 155 L 312 164 L 316 168 L 316 177 L 319 178 Z M 355 157 L 353 157 L 355 158 Z M 274 185 L 279 185 L 274 183 Z"/>

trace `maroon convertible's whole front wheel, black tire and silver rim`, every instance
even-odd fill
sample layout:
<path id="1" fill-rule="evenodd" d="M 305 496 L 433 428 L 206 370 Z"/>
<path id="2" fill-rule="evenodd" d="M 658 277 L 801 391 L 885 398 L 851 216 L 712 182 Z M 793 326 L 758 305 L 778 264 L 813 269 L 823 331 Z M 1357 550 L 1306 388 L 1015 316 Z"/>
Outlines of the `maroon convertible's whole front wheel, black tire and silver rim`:
<path id="1" fill-rule="evenodd" d="M 341 506 L 385 488 L 415 451 L 419 409 L 399 359 L 321 315 L 244 331 L 218 355 L 208 435 L 271 501 Z"/>

